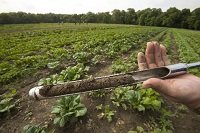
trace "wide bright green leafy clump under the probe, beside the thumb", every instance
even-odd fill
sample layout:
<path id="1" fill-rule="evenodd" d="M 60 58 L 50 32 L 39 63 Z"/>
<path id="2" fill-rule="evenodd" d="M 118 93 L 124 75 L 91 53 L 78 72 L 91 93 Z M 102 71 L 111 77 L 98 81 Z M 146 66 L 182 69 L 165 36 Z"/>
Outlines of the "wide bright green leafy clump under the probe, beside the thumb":
<path id="1" fill-rule="evenodd" d="M 159 110 L 163 102 L 152 89 L 140 87 L 136 90 L 132 90 L 132 87 L 118 87 L 113 91 L 111 100 L 114 105 L 122 106 L 125 110 L 132 107 L 138 111 Z"/>

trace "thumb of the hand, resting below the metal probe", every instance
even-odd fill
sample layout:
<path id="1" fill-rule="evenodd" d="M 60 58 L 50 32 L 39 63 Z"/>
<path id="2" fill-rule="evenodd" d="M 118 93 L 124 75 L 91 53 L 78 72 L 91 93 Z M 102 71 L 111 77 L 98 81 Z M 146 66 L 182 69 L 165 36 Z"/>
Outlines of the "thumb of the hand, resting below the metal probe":
<path id="1" fill-rule="evenodd" d="M 165 95 L 170 95 L 171 94 L 171 87 L 170 84 L 165 82 L 162 79 L 157 79 L 157 78 L 151 78 L 143 82 L 143 87 L 144 88 L 153 88 L 159 93 L 163 93 Z"/>

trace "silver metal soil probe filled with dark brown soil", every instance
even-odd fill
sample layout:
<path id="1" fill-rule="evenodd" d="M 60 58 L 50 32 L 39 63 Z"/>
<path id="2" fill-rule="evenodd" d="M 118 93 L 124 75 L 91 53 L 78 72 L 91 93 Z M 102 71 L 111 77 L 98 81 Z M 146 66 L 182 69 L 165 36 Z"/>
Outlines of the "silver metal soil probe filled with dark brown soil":
<path id="1" fill-rule="evenodd" d="M 59 85 L 37 86 L 29 91 L 29 96 L 36 99 L 46 99 L 74 93 L 95 91 L 117 86 L 138 84 L 149 78 L 166 79 L 187 73 L 188 68 L 200 67 L 200 62 L 179 63 L 143 71 L 134 71 L 125 74 L 114 74 L 77 81 L 70 81 Z"/>

